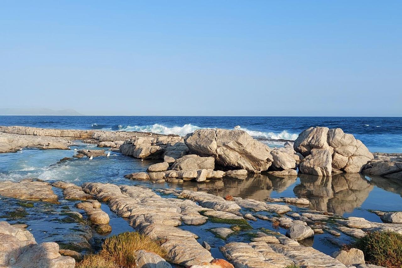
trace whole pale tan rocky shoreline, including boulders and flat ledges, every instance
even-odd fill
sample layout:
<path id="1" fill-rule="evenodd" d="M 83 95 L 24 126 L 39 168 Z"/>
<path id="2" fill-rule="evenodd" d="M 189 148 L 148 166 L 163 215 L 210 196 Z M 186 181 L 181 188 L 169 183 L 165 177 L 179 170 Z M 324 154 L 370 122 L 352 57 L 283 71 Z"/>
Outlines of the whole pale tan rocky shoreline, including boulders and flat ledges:
<path id="1" fill-rule="evenodd" d="M 139 159 L 162 161 L 150 165 L 146 172 L 125 176 L 127 179 L 152 183 L 205 183 L 224 177 L 246 179 L 250 174 L 259 173 L 278 177 L 296 177 L 299 174 L 301 178 L 303 174 L 308 174 L 322 177 L 323 181 L 339 174 L 360 176 L 358 173 L 402 179 L 400 155 L 373 155 L 361 141 L 339 128 L 309 128 L 301 132 L 294 143 L 285 142 L 284 147 L 269 148 L 242 130 L 201 129 L 180 137 L 144 132 L 0 126 L 0 152 L 15 152 L 25 147 L 68 150 L 76 140 L 98 147 L 110 147 L 123 155 Z M 109 157 L 109 154 L 105 150 L 78 150 L 74 157 L 92 159 Z M 363 268 L 369 266 L 363 266 L 364 256 L 358 249 L 328 256 L 311 247 L 314 237 L 328 233 L 332 236 L 328 241 L 339 244 L 339 236 L 360 238 L 366 232 L 373 231 L 402 234 L 402 212 L 375 211 L 373 213 L 383 220 L 383 223 L 375 223 L 364 218 L 343 218 L 330 212 L 308 210 L 303 206 L 309 206 L 312 201 L 306 198 L 266 198 L 260 201 L 230 195 L 223 198 L 177 188 L 152 189 L 140 185 L 98 182 L 85 182 L 77 186 L 63 181 L 49 184 L 35 179 L 0 182 L 0 195 L 57 204 L 60 200 L 52 186 L 62 189 L 63 202 L 78 201 L 76 208 L 84 211 L 87 224 L 96 232 L 112 231 L 109 215 L 101 209 L 101 203 L 104 203 L 117 216 L 127 220 L 133 230 L 162 241 L 161 248 L 166 251 L 171 263 L 191 268 L 283 268 L 291 265 L 353 265 Z M 295 210 L 291 204 L 300 208 Z M 83 218 L 80 213 L 76 216 Z M 285 228 L 286 234 L 254 229 L 251 223 L 260 221 L 269 226 Z M 210 246 L 207 247 L 205 241 L 201 243 L 202 237 L 181 228 L 193 226 L 197 229 L 211 222 L 222 223 L 223 226 L 214 225 L 208 231 L 223 241 L 232 235 L 251 234 L 252 237 L 248 241 L 230 241 L 219 247 L 228 262 L 215 259 L 208 250 Z M 21 228 L 12 227 L 6 222 L 0 224 L 0 236 L 5 235 L 0 252 L 6 256 L 0 259 L 0 266 L 25 267 L 22 264 L 31 260 L 37 264 L 35 267 L 74 267 L 73 258 L 60 256 L 57 243 L 42 243 L 27 249 L 25 242 L 21 242 L 27 239 L 16 240 L 21 237 L 16 235 L 21 233 Z M 246 233 L 247 230 L 249 233 Z M 24 232 L 24 237 L 32 236 L 29 231 Z M 35 240 L 29 241 L 35 244 Z M 41 254 L 38 255 L 38 251 Z M 352 257 L 359 261 L 349 263 L 348 258 Z M 40 266 L 44 262 L 50 263 L 49 266 Z M 63 262 L 64 266 L 58 262 Z"/>

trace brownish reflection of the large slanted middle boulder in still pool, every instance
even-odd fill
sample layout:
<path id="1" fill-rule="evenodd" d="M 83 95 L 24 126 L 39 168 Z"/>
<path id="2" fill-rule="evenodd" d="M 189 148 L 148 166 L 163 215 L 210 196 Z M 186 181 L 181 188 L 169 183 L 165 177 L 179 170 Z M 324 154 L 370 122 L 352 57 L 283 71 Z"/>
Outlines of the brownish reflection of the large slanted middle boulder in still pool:
<path id="1" fill-rule="evenodd" d="M 208 183 L 183 184 L 183 189 L 204 191 L 218 196 L 231 196 L 251 198 L 264 201 L 271 196 L 272 191 L 283 192 L 296 181 L 295 176 L 275 177 L 263 174 L 249 174 L 246 179 L 224 177 L 224 180 L 211 180 Z"/>

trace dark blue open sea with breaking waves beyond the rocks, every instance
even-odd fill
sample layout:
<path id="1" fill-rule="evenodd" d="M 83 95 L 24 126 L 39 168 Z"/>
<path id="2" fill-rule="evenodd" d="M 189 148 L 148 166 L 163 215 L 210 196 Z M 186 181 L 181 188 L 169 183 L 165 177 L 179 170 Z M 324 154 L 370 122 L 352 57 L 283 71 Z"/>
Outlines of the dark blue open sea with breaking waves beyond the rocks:
<path id="1" fill-rule="evenodd" d="M 209 116 L 0 116 L 0 125 L 37 128 L 146 131 L 184 136 L 198 128 L 234 128 L 265 140 L 295 140 L 312 126 L 342 128 L 371 152 L 402 153 L 402 117 L 209 117 Z"/>

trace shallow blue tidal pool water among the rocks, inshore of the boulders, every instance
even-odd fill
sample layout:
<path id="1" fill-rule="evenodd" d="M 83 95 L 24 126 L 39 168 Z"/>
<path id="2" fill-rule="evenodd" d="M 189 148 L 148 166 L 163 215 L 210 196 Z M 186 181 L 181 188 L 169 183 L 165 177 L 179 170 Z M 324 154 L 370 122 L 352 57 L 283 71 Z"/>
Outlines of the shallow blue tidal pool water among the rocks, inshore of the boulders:
<path id="1" fill-rule="evenodd" d="M 93 148 L 76 142 L 71 148 Z M 359 216 L 369 221 L 381 222 L 379 217 L 369 210 L 402 211 L 402 181 L 387 179 L 377 176 L 365 176 L 361 174 L 340 174 L 332 177 L 322 178 L 310 175 L 299 175 L 296 177 L 275 177 L 267 175 L 249 175 L 246 179 L 224 177 L 222 180 L 211 180 L 210 182 L 195 183 L 186 181 L 183 184 L 159 183 L 149 181 L 132 181 L 123 176 L 135 171 L 145 171 L 146 168 L 157 161 L 134 159 L 120 153 L 111 153 L 111 157 L 95 157 L 89 160 L 70 159 L 66 162 L 55 164 L 59 159 L 72 157 L 74 150 L 39 150 L 23 149 L 17 153 L 3 153 L 0 155 L 2 163 L 0 167 L 0 180 L 12 179 L 14 181 L 23 178 L 39 178 L 43 180 L 71 181 L 77 185 L 85 181 L 109 182 L 115 184 L 144 185 L 150 188 L 183 188 L 188 190 L 202 190 L 218 196 L 238 196 L 264 201 L 267 197 L 301 197 L 311 201 L 310 206 L 293 206 L 294 211 L 305 209 L 322 210 L 333 212 L 340 216 Z M 27 223 L 32 229 L 35 239 L 42 241 L 58 241 L 66 239 L 66 234 L 85 233 L 83 226 L 78 223 L 64 223 L 59 221 L 59 213 L 66 210 L 78 211 L 74 208 L 74 202 L 63 200 L 61 190 L 53 188 L 59 195 L 62 204 L 45 204 L 35 202 L 33 208 L 22 208 L 27 216 L 21 219 L 10 219 L 8 213 L 21 209 L 16 200 L 11 198 L 0 198 L 2 213 L 0 220 L 6 219 L 11 223 Z M 64 207 L 64 208 L 63 208 Z M 103 209 L 111 215 L 111 226 L 113 233 L 132 230 L 124 219 L 118 218 L 109 210 L 107 205 Z M 259 212 L 270 216 L 268 212 Z M 3 218 L 3 219 L 2 219 Z M 50 222 L 50 224 L 49 224 Z M 269 221 L 250 221 L 254 228 L 239 235 L 229 237 L 228 241 L 249 241 L 250 236 L 256 231 L 270 229 L 285 233 L 286 229 L 279 227 L 274 229 Z M 215 237 L 208 231 L 211 227 L 223 226 L 217 223 L 206 223 L 199 227 L 183 225 L 180 228 L 193 231 L 203 240 L 213 246 L 212 254 L 215 258 L 222 257 L 218 247 L 226 242 Z M 105 236 L 92 234 L 90 242 L 99 245 L 97 242 Z M 308 243 L 320 251 L 331 254 L 338 249 L 339 245 L 333 245 L 327 238 L 331 235 L 325 233 L 316 235 L 314 240 Z M 71 237 L 69 237 L 71 239 Z M 337 238 L 340 243 L 348 243 L 351 237 L 341 235 Z M 68 240 L 68 239 L 67 239 Z"/>

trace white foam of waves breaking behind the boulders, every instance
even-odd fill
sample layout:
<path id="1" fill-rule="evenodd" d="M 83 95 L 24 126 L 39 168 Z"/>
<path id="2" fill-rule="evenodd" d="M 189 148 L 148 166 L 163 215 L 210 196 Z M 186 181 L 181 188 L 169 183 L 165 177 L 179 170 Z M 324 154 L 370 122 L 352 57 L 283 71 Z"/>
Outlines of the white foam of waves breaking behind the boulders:
<path id="1" fill-rule="evenodd" d="M 180 136 L 185 136 L 189 133 L 194 132 L 197 129 L 201 129 L 199 126 L 194 126 L 191 124 L 185 124 L 184 126 L 174 126 L 174 127 L 166 127 L 161 124 L 153 124 L 148 126 L 127 126 L 121 127 L 119 126 L 119 130 L 121 131 L 139 131 L 139 132 L 153 132 L 158 134 L 176 134 Z M 273 140 L 295 140 L 297 138 L 297 134 L 288 133 L 286 130 L 283 130 L 280 133 L 274 132 L 262 132 L 262 131 L 255 131 L 255 130 L 248 130 L 247 128 L 240 128 L 240 130 L 244 130 L 250 136 L 256 138 L 269 138 Z"/>

